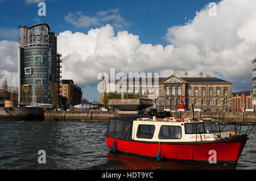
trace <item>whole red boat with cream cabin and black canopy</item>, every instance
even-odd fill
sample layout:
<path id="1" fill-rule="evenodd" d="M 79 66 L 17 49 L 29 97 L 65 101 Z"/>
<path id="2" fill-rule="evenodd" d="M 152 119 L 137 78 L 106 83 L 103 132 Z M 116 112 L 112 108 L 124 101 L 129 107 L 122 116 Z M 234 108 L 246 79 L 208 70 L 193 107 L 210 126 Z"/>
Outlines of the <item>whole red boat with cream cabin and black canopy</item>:
<path id="1" fill-rule="evenodd" d="M 155 157 L 158 161 L 236 164 L 249 135 L 240 134 L 238 128 L 234 132 L 222 132 L 213 119 L 156 119 L 134 115 L 109 119 L 105 136 L 113 151 Z"/>

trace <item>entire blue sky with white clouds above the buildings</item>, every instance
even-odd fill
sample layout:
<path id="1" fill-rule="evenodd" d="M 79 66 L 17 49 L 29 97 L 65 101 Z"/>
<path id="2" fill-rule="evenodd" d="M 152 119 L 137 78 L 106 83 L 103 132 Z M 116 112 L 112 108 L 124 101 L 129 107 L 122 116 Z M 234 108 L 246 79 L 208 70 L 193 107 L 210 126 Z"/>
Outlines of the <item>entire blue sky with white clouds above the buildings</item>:
<path id="1" fill-rule="evenodd" d="M 100 73 L 102 69 L 109 72 L 115 65 L 117 72 L 152 71 L 160 72 L 163 76 L 174 72 L 183 77 L 184 72 L 188 72 L 195 77 L 200 71 L 204 71 L 205 74 L 232 81 L 233 91 L 250 90 L 250 60 L 255 56 L 255 42 L 251 39 L 253 35 L 246 33 L 246 30 L 254 30 L 255 27 L 251 23 L 254 19 L 252 9 L 255 8 L 253 0 L 243 1 L 248 3 L 248 7 L 239 0 L 45 0 L 43 2 L 46 3 L 46 16 L 38 15 L 39 2 L 40 0 L 0 0 L 0 47 L 3 47 L 2 52 L 0 48 L 0 62 L 5 62 L 0 65 L 0 79 L 8 76 L 10 72 L 15 73 L 16 54 L 5 52 L 4 48 L 17 46 L 18 26 L 48 23 L 51 31 L 58 35 L 60 43 L 68 44 L 69 41 L 66 40 L 80 36 L 80 39 L 84 38 L 86 42 L 98 45 L 99 38 L 88 38 L 90 30 L 93 33 L 100 30 L 102 34 L 108 35 L 106 41 L 113 43 L 110 43 L 109 47 L 94 47 L 103 53 L 90 56 L 86 56 L 90 50 L 82 49 L 90 44 L 80 43 L 79 38 L 77 46 L 80 47 L 67 48 L 64 44 L 59 45 L 58 51 L 62 51 L 60 53 L 64 55 L 64 78 L 74 79 L 75 83 L 82 87 L 84 97 L 89 100 L 97 99 L 97 75 L 87 75 Z M 207 8 L 211 2 L 217 4 L 218 14 L 214 17 L 208 15 Z M 127 33 L 118 35 L 124 31 Z M 76 32 L 81 34 L 77 35 Z M 119 49 L 120 44 L 116 39 L 127 41 L 125 46 L 130 48 L 130 52 Z M 113 48 L 115 46 L 117 48 Z M 243 48 L 246 46 L 250 47 L 250 50 Z M 120 57 L 120 54 L 128 55 Z M 100 59 L 97 59 L 99 56 Z M 147 60 L 143 60 L 143 57 L 147 57 Z M 142 58 L 143 64 L 140 64 L 139 58 Z M 106 67 L 102 63 L 105 60 L 109 61 Z M 115 63 L 116 60 L 129 62 L 130 69 L 120 68 Z M 81 65 L 79 73 L 82 79 L 77 78 L 77 68 L 68 61 Z M 148 62 L 148 65 L 145 62 Z M 97 69 L 97 65 L 100 68 Z"/>

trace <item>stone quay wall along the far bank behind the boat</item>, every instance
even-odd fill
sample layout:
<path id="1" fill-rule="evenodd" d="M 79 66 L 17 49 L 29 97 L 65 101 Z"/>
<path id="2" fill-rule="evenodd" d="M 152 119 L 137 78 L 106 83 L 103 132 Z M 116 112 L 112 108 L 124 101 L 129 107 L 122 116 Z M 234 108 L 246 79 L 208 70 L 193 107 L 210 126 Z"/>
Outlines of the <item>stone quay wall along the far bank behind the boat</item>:
<path id="1" fill-rule="evenodd" d="M 45 112 L 44 120 L 60 121 L 108 121 L 110 117 L 129 116 L 133 112 L 121 113 L 120 111 L 56 111 Z M 193 117 L 192 111 L 171 112 L 172 117 Z M 256 122 L 253 112 L 195 112 L 195 118 L 213 118 L 222 122 Z"/>

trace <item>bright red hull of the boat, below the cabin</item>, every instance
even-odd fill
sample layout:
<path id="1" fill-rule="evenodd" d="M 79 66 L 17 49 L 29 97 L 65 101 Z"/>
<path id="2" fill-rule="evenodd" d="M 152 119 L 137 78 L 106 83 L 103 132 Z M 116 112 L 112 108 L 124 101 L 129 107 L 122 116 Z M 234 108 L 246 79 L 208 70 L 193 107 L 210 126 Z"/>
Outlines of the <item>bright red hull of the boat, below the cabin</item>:
<path id="1" fill-rule="evenodd" d="M 106 137 L 110 149 L 113 149 L 113 141 L 114 138 Z M 155 158 L 160 151 L 161 159 L 236 164 L 246 141 L 247 136 L 211 142 L 160 142 L 160 144 L 115 139 L 115 150 Z"/>

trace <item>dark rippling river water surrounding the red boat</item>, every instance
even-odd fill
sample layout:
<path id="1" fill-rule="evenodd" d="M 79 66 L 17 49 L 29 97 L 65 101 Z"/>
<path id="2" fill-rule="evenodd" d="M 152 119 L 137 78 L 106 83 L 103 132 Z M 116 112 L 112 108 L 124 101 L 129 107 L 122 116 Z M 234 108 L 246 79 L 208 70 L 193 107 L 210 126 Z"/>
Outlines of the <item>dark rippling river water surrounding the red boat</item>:
<path id="1" fill-rule="evenodd" d="M 113 153 L 106 145 L 107 123 L 0 121 L 0 169 L 256 169 L 256 131 L 250 133 L 235 167 L 161 161 Z M 39 164 L 39 150 L 46 163 Z"/>

